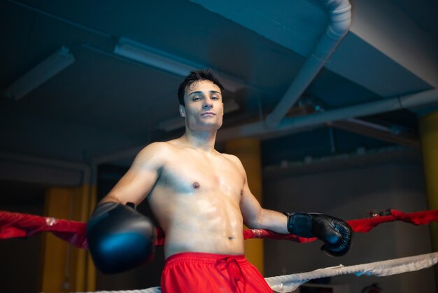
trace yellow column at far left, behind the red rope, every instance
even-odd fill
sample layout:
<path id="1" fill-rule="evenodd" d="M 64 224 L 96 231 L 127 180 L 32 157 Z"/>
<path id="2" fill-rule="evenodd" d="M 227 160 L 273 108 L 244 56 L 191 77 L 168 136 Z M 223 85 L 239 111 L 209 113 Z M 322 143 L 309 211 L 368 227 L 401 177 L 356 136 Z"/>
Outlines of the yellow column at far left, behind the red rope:
<path id="1" fill-rule="evenodd" d="M 45 216 L 86 222 L 94 207 L 96 188 L 53 187 L 45 194 Z M 42 292 L 95 290 L 95 268 L 87 250 L 73 247 L 45 233 L 43 237 Z"/>

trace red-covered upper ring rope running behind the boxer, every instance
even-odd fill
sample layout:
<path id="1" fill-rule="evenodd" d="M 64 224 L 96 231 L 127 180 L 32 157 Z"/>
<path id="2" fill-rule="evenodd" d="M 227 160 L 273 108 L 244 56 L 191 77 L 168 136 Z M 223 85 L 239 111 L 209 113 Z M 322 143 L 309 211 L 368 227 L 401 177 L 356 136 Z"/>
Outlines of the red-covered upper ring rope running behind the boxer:
<path id="1" fill-rule="evenodd" d="M 366 219 L 353 219 L 347 221 L 355 232 L 365 233 L 382 223 L 402 221 L 414 225 L 425 225 L 438 222 L 438 210 L 426 210 L 405 214 L 398 210 L 388 210 L 388 215 L 370 217 Z M 73 246 L 87 249 L 86 223 L 41 217 L 32 214 L 0 211 L 0 239 L 27 238 L 40 232 L 51 232 Z M 316 238 L 302 238 L 292 234 L 281 234 L 263 229 L 244 229 L 243 238 L 269 238 L 292 240 L 299 243 L 308 243 Z M 157 228 L 157 241 L 155 245 L 164 245 L 164 232 Z"/>

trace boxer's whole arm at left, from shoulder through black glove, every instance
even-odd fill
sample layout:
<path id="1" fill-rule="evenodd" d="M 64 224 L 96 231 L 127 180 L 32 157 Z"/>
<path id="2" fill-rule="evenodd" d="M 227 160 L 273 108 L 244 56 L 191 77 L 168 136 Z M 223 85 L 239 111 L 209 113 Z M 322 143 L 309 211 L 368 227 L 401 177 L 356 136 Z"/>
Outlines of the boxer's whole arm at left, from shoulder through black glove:
<path id="1" fill-rule="evenodd" d="M 120 273 L 153 257 L 155 227 L 133 206 L 146 198 L 164 165 L 167 145 L 150 144 L 101 200 L 87 222 L 87 243 L 94 265 L 103 273 Z"/>

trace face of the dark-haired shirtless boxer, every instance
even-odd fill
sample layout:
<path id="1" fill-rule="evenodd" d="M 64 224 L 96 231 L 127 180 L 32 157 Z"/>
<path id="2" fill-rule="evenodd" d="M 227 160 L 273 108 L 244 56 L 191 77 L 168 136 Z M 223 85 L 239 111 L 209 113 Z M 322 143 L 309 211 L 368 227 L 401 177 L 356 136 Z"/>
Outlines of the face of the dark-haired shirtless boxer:
<path id="1" fill-rule="evenodd" d="M 185 90 L 185 107 L 180 114 L 192 130 L 218 130 L 222 126 L 223 104 L 220 88 L 211 81 L 195 81 Z"/>

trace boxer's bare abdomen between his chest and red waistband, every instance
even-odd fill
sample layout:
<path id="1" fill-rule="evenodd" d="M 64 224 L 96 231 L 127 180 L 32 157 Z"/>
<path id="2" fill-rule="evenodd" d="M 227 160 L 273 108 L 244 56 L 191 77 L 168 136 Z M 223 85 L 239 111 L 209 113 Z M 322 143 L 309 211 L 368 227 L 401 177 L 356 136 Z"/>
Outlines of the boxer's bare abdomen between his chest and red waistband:
<path id="1" fill-rule="evenodd" d="M 148 201 L 166 234 L 166 258 L 180 252 L 244 253 L 239 198 L 220 192 L 175 194 L 157 188 Z"/>

